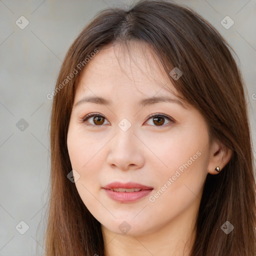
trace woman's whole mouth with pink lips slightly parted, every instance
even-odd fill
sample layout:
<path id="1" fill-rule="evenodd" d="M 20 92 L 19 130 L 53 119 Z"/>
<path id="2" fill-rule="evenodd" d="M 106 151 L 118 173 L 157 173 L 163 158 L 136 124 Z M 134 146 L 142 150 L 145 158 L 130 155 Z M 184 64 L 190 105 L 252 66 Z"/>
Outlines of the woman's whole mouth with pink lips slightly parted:
<path id="1" fill-rule="evenodd" d="M 137 201 L 153 190 L 153 187 L 134 182 L 112 182 L 102 188 L 111 199 L 123 203 Z"/>

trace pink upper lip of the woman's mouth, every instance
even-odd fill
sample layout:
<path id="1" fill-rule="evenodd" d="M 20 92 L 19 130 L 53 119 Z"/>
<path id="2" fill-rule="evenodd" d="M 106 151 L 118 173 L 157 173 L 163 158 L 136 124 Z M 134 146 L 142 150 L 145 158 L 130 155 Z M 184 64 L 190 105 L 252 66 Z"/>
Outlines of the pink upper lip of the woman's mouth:
<path id="1" fill-rule="evenodd" d="M 118 192 L 133 192 L 130 189 L 135 189 L 134 191 L 139 191 L 138 189 L 140 190 L 153 189 L 153 187 L 142 185 L 140 183 L 135 183 L 135 182 L 122 183 L 118 181 L 111 182 L 106 186 L 104 186 L 103 188 L 111 189 Z"/>

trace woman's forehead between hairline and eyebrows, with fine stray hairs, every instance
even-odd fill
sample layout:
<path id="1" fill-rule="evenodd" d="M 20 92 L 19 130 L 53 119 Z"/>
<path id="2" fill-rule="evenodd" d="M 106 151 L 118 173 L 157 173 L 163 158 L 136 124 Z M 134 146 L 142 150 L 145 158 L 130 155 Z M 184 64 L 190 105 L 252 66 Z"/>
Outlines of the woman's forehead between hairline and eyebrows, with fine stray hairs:
<path id="1" fill-rule="evenodd" d="M 176 92 L 150 47 L 140 41 L 115 43 L 99 49 L 83 68 L 77 93 L 113 91 L 155 94 Z M 89 91 L 91 89 L 92 91 Z"/>

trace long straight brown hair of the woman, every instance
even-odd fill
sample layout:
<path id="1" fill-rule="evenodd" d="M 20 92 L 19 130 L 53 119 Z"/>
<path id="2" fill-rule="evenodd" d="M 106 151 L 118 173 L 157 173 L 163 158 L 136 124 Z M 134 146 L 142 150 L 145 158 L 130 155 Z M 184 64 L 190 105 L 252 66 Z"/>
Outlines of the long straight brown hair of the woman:
<path id="1" fill-rule="evenodd" d="M 81 70 L 86 68 L 86 57 L 93 57 L 92 52 L 107 45 L 129 40 L 149 45 L 167 74 L 174 67 L 182 71 L 178 80 L 169 75 L 172 84 L 203 115 L 210 139 L 233 150 L 221 172 L 207 174 L 191 255 L 256 255 L 252 142 L 245 87 L 232 55 L 235 53 L 200 15 L 164 0 L 142 0 L 128 9 L 100 11 L 65 56 L 55 90 L 50 94 L 54 97 L 46 255 L 104 255 L 100 223 L 67 178 L 72 168 L 66 138 L 75 88 Z M 227 220 L 234 226 L 229 234 L 220 228 Z"/>

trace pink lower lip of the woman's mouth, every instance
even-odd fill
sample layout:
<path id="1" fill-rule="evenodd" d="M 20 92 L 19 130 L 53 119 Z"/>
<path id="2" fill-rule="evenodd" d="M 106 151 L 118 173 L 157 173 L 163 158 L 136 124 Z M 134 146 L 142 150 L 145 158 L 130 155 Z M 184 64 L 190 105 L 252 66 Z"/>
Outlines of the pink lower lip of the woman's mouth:
<path id="1" fill-rule="evenodd" d="M 118 202 L 134 202 L 138 199 L 148 195 L 153 189 L 146 189 L 134 192 L 116 192 L 110 189 L 103 188 L 107 195 Z"/>

